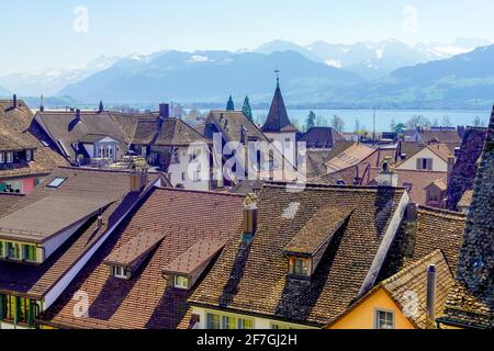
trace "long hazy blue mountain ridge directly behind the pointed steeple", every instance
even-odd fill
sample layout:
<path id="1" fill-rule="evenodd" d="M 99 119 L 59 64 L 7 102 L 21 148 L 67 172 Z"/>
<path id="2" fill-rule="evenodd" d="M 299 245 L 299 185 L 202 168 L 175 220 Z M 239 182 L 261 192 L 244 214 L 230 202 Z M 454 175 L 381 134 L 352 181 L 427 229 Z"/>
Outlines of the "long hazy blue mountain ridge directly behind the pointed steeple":
<path id="1" fill-rule="evenodd" d="M 268 101 L 274 69 L 281 69 L 283 92 L 297 102 L 314 94 L 361 82 L 349 71 L 307 59 L 295 52 L 165 52 L 116 61 L 109 69 L 66 87 L 60 94 L 111 103 L 156 101 L 225 102 L 229 94 Z"/>

